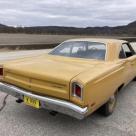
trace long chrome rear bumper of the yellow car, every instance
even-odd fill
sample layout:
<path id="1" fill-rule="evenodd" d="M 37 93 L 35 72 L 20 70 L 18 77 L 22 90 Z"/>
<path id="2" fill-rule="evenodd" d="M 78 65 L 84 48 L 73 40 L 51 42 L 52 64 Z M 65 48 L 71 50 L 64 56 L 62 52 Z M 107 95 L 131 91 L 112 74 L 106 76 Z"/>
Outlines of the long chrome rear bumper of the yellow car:
<path id="1" fill-rule="evenodd" d="M 22 100 L 24 96 L 38 99 L 41 103 L 41 108 L 57 111 L 77 119 L 83 119 L 88 113 L 87 107 L 81 108 L 68 101 L 36 95 L 31 92 L 27 92 L 24 89 L 2 82 L 0 82 L 0 91 Z"/>

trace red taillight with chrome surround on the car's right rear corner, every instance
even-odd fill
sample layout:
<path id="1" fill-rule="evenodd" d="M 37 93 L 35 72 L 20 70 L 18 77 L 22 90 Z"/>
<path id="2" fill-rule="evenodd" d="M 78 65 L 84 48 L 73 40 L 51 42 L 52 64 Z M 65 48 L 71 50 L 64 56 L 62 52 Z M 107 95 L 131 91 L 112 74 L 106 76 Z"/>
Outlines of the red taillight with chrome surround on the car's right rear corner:
<path id="1" fill-rule="evenodd" d="M 78 83 L 72 84 L 72 94 L 74 97 L 82 99 L 83 97 L 83 87 Z"/>

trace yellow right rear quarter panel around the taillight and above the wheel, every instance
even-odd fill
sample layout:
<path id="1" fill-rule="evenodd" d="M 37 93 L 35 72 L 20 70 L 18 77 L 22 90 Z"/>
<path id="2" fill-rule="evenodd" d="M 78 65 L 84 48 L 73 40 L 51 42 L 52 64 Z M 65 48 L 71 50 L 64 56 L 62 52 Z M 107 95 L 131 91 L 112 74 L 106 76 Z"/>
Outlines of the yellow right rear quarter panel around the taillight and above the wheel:
<path id="1" fill-rule="evenodd" d="M 72 101 L 88 106 L 92 113 L 102 106 L 112 96 L 120 85 L 124 83 L 124 66 L 114 65 L 95 68 L 76 77 L 77 82 L 84 84 L 83 102 Z"/>

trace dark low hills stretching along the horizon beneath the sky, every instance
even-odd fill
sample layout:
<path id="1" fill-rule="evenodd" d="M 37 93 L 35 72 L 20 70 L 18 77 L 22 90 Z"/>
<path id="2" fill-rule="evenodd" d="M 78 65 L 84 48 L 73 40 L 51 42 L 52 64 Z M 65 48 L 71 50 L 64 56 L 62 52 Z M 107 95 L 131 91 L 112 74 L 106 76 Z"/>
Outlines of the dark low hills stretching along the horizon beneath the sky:
<path id="1" fill-rule="evenodd" d="M 93 36 L 136 36 L 136 21 L 125 26 L 117 27 L 58 27 L 58 26 L 35 26 L 35 27 L 9 27 L 0 24 L 0 33 L 28 33 L 28 34 L 66 34 L 66 35 L 93 35 Z"/>

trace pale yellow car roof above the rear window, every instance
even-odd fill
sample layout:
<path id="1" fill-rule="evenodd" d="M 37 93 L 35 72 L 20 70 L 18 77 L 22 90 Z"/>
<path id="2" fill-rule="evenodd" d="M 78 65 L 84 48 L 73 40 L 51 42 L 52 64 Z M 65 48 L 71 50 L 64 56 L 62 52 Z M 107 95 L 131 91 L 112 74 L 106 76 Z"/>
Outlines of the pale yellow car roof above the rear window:
<path id="1" fill-rule="evenodd" d="M 100 43 L 118 43 L 118 44 L 122 44 L 122 43 L 126 43 L 127 41 L 125 40 L 118 40 L 118 39 L 106 39 L 106 38 L 78 38 L 78 39 L 70 39 L 67 40 L 66 42 L 70 42 L 70 41 L 89 41 L 89 42 L 100 42 Z"/>

